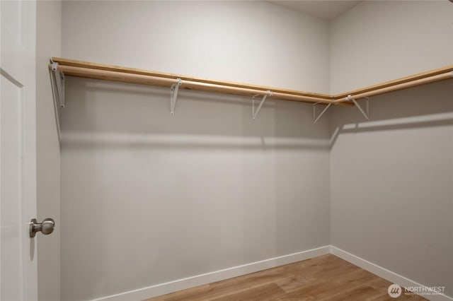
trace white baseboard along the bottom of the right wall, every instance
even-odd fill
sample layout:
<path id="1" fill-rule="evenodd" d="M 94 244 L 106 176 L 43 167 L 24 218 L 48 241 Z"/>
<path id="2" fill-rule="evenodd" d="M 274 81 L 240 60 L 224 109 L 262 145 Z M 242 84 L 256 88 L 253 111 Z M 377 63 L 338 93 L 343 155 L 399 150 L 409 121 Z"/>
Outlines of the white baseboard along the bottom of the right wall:
<path id="1" fill-rule="evenodd" d="M 331 254 L 340 257 L 341 259 L 344 259 L 345 261 L 349 261 L 351 264 L 355 264 L 356 266 L 359 266 L 360 268 L 363 268 L 366 271 L 369 271 L 371 273 L 374 273 L 375 275 L 384 278 L 392 283 L 396 283 L 400 285 L 401 287 L 408 288 L 408 287 L 424 287 L 425 285 L 421 285 L 420 283 L 416 283 L 415 281 L 411 281 L 411 279 L 408 279 L 404 276 L 398 275 L 397 273 L 394 273 L 392 271 L 387 270 L 386 268 L 383 268 L 382 266 L 378 266 L 377 264 L 373 264 L 372 262 L 369 262 L 365 259 L 362 259 L 358 256 L 355 256 L 353 254 L 350 254 L 346 251 L 343 251 L 342 249 L 338 249 L 337 247 L 331 246 Z M 448 297 L 447 295 L 444 294 L 438 294 L 438 295 L 422 295 L 422 297 L 425 297 L 426 299 L 432 300 L 432 301 L 447 301 L 447 300 L 453 300 L 452 297 Z"/>

